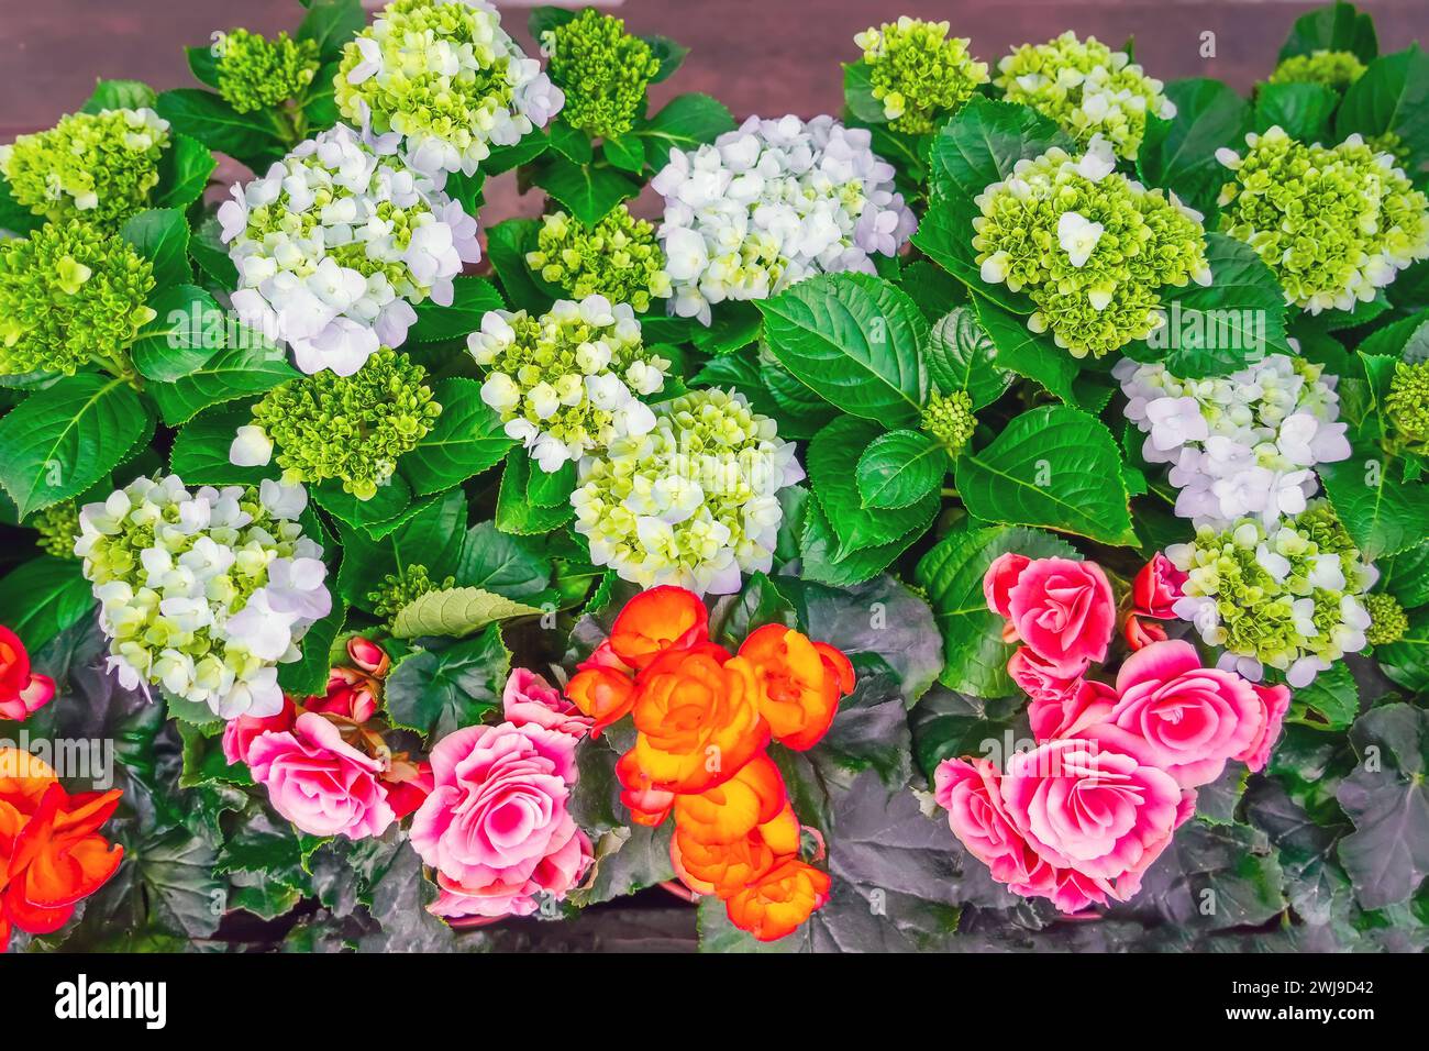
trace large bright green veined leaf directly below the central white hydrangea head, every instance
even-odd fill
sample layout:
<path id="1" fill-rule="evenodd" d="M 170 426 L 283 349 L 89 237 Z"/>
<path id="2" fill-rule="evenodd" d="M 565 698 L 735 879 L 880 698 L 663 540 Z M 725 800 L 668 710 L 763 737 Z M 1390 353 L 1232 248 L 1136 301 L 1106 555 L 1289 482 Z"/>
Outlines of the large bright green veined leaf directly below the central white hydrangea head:
<path id="1" fill-rule="evenodd" d="M 830 405 L 889 426 L 917 419 L 927 400 L 927 322 L 897 287 L 827 275 L 757 306 L 773 356 Z"/>

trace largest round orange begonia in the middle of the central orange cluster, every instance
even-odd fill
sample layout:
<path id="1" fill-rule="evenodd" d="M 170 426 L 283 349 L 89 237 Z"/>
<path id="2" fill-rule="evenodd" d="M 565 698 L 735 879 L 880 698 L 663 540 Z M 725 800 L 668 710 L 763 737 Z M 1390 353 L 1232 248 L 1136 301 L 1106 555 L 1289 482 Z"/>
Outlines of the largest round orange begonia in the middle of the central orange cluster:
<path id="1" fill-rule="evenodd" d="M 669 792 L 729 781 L 769 742 L 756 694 L 753 669 L 712 642 L 660 655 L 632 709 L 640 769 Z"/>

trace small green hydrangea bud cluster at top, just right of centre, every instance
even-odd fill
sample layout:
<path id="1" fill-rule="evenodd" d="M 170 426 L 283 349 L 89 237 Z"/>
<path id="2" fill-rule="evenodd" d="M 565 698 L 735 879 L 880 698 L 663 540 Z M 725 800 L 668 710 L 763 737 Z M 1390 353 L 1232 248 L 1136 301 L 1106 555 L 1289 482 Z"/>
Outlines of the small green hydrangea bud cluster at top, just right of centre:
<path id="1" fill-rule="evenodd" d="M 853 37 L 869 64 L 873 97 L 895 132 L 926 134 L 937 119 L 956 113 L 987 83 L 987 63 L 967 50 L 967 37 L 949 37 L 946 21 L 906 14 Z"/>

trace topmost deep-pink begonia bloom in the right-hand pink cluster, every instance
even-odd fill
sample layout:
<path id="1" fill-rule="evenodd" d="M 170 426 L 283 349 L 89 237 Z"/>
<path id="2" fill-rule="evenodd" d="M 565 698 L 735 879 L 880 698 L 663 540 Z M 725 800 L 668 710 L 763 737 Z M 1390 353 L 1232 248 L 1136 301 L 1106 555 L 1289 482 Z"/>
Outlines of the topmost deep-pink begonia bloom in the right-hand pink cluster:
<path id="1" fill-rule="evenodd" d="M 987 568 L 983 593 L 989 609 L 1009 618 L 1016 638 L 1063 676 L 1075 678 L 1106 656 L 1116 599 L 1095 562 L 1003 555 Z"/>

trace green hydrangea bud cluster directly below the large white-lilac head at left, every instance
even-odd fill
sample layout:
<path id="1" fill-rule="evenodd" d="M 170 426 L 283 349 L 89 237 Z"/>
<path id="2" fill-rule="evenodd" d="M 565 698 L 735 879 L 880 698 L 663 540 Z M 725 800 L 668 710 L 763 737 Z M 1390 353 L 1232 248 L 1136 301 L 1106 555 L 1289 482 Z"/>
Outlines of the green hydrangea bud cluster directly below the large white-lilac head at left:
<path id="1" fill-rule="evenodd" d="M 277 446 L 284 482 L 336 478 L 370 500 L 442 413 L 424 379 L 420 365 L 382 347 L 352 376 L 323 369 L 273 388 L 253 423 Z"/>

